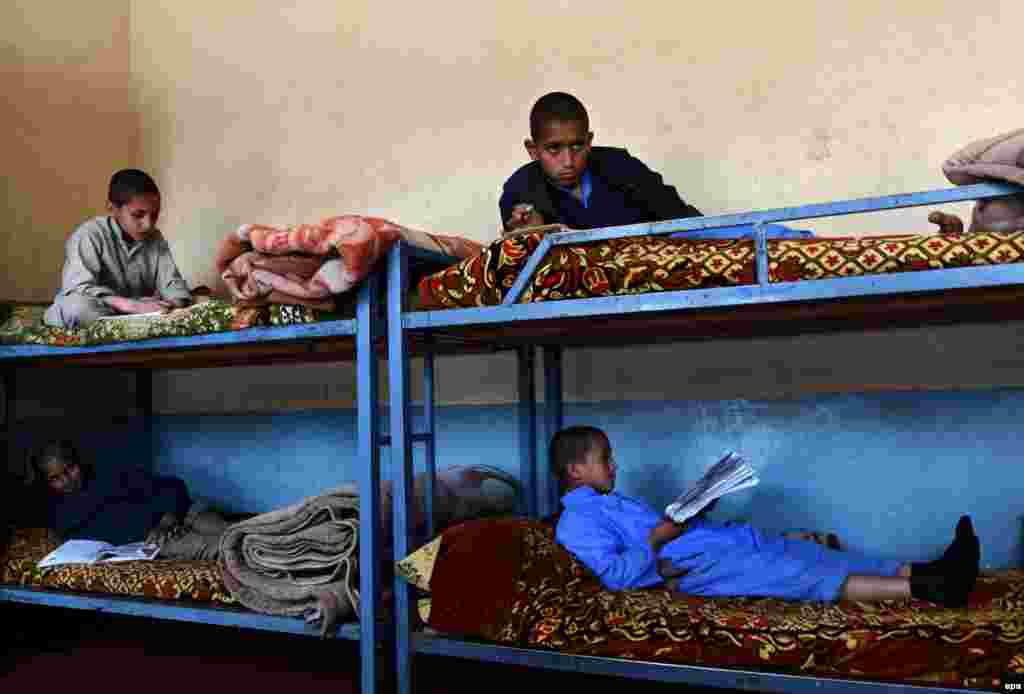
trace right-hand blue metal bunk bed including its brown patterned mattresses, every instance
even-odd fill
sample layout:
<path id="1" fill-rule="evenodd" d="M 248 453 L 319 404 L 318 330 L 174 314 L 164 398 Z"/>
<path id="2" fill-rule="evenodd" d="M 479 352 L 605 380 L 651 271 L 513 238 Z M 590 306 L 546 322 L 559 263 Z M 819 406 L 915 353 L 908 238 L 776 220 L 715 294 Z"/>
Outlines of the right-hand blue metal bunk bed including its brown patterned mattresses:
<path id="1" fill-rule="evenodd" d="M 395 463 L 394 559 L 399 563 L 395 578 L 398 691 L 412 689 L 412 659 L 416 653 L 757 691 L 938 692 L 999 686 L 992 678 L 961 679 L 950 684 L 941 678 L 908 681 L 906 678 L 912 675 L 901 674 L 899 667 L 889 671 L 862 669 L 864 663 L 854 655 L 859 648 L 857 642 L 863 640 L 851 635 L 866 635 L 874 653 L 883 653 L 889 662 L 901 658 L 912 660 L 906 651 L 893 644 L 907 635 L 918 635 L 923 640 L 913 646 L 919 658 L 922 648 L 942 641 L 946 644 L 944 655 L 939 654 L 942 657 L 955 656 L 956 648 L 963 653 L 967 649 L 971 655 L 965 657 L 1002 658 L 1001 667 L 1007 667 L 1007 649 L 1016 648 L 1011 651 L 1016 653 L 1014 666 L 1024 668 L 1024 655 L 1019 647 L 1021 623 L 1024 623 L 1019 608 L 1024 591 L 1021 572 L 1002 576 L 1001 582 L 981 580 L 982 595 L 978 600 L 987 611 L 978 617 L 984 623 L 974 624 L 955 624 L 955 618 L 948 617 L 943 620 L 921 614 L 901 615 L 898 610 L 891 613 L 889 608 L 862 613 L 827 608 L 808 608 L 808 611 L 798 607 L 794 612 L 777 602 L 766 606 L 763 601 L 740 601 L 742 604 L 730 612 L 728 607 L 701 599 L 683 602 L 679 607 L 680 601 L 672 603 L 665 591 L 641 592 L 645 593 L 642 598 L 602 592 L 593 576 L 588 577 L 588 572 L 554 544 L 550 517 L 536 520 L 554 513 L 558 501 L 554 484 L 545 472 L 548 466 L 541 464 L 537 450 L 534 353 L 535 346 L 543 348 L 544 440 L 550 440 L 562 423 L 561 363 L 565 347 L 862 330 L 884 328 L 897 320 L 901 326 L 921 326 L 1021 319 L 1024 318 L 1024 263 L 1018 253 L 1021 232 L 1012 240 L 998 241 L 1017 250 L 980 257 L 986 255 L 985 249 L 980 254 L 975 253 L 978 249 L 952 249 L 956 244 L 972 243 L 971 234 L 955 238 L 937 234 L 894 236 L 885 242 L 862 243 L 828 238 L 788 242 L 770 240 L 764 229 L 771 222 L 1020 192 L 1021 188 L 1014 185 L 985 183 L 617 228 L 566 230 L 547 235 L 526 232 L 496 243 L 488 251 L 489 256 L 485 253 L 458 265 L 452 265 L 454 259 L 434 256 L 437 266 L 446 269 L 421 280 L 414 301 L 408 298 L 409 264 L 413 259 L 422 260 L 424 254 L 403 245 L 392 248 L 387 301 L 390 427 Z M 700 238 L 702 230 L 738 225 L 753 225 L 753 230 L 732 240 L 719 237 L 703 245 L 695 241 Z M 664 241 L 681 232 L 693 235 L 674 242 L 677 248 L 672 253 L 688 253 L 685 260 L 690 261 L 689 267 L 697 268 L 692 272 L 684 265 L 676 274 L 648 273 L 637 278 L 628 270 L 610 276 L 613 268 L 607 272 L 594 269 L 600 269 L 598 260 L 602 253 L 615 252 L 615 243 L 636 242 L 636 246 L 642 247 L 645 242 L 638 236 Z M 909 261 L 907 255 L 886 256 L 889 250 L 895 254 L 901 253 L 900 248 L 905 251 L 901 246 L 904 242 L 919 245 Z M 991 242 L 984 238 L 982 246 L 992 250 Z M 829 255 L 828 251 L 837 250 L 837 244 L 843 243 L 853 245 L 855 256 L 863 258 L 864 252 L 868 252 L 870 260 L 865 267 L 849 271 L 843 269 L 842 262 L 835 267 L 818 262 Z M 801 244 L 805 245 L 804 257 L 787 263 L 787 254 L 799 255 Z M 665 243 L 653 244 L 647 251 L 657 255 L 665 251 Z M 950 249 L 951 254 L 945 253 Z M 709 254 L 719 256 L 719 267 L 705 262 Z M 844 253 L 837 255 L 842 260 Z M 579 260 L 575 265 L 573 258 Z M 631 286 L 631 280 L 636 284 Z M 498 529 L 487 532 L 481 525 L 468 524 L 428 544 L 421 551 L 429 560 L 426 564 L 433 568 L 423 569 L 427 576 L 424 582 L 420 569 L 401 567 L 415 547 L 407 505 L 400 500 L 408 502 L 410 497 L 414 441 L 426 443 L 430 474 L 435 466 L 433 357 L 485 346 L 517 350 L 520 475 L 526 490 L 524 510 L 529 519 L 492 524 Z M 410 357 L 414 351 L 424 356 L 426 430 L 417 433 L 411 429 L 409 388 Z M 456 546 L 465 551 L 461 561 L 453 556 L 457 550 L 452 548 Z M 529 566 L 523 567 L 522 562 Z M 431 575 L 430 571 L 434 573 Z M 443 580 L 438 575 L 442 571 Z M 467 578 L 458 582 L 460 575 L 471 578 L 468 583 Z M 414 630 L 410 580 L 421 589 L 429 585 L 431 590 L 432 597 L 420 605 L 429 605 L 427 625 L 419 630 Z M 444 582 L 451 580 L 458 584 Z M 474 596 L 474 587 L 492 585 L 494 581 L 501 582 L 503 588 L 486 592 L 483 597 Z M 447 597 L 443 606 L 439 604 L 442 594 Z M 566 605 L 572 601 L 577 611 L 566 614 Z M 667 617 L 670 605 L 675 605 L 671 608 L 675 611 Z M 442 607 L 446 612 L 438 614 Z M 646 615 L 642 627 L 637 627 L 639 622 L 634 621 L 618 628 L 617 638 L 609 636 L 616 631 L 609 623 L 638 611 Z M 504 621 L 488 621 L 499 613 L 504 615 Z M 567 626 L 565 620 L 560 625 L 545 623 L 546 619 L 557 622 L 556 617 L 564 617 L 572 624 Z M 808 620 L 817 623 L 816 631 L 808 633 L 804 628 Z M 741 622 L 738 627 L 737 622 Z M 437 623 L 451 628 L 432 628 Z M 594 627 L 600 634 L 591 643 L 582 637 L 568 636 L 572 630 L 578 634 L 586 632 L 588 624 L 600 624 Z M 880 624 L 888 624 L 892 631 L 879 632 Z M 628 633 L 631 627 L 633 634 Z M 625 636 L 623 630 L 627 632 Z M 703 635 L 695 638 L 694 630 L 703 630 Z M 637 642 L 653 633 L 660 639 L 654 646 L 664 648 L 637 647 Z M 972 649 L 972 644 L 977 644 L 971 638 L 977 634 L 988 635 L 985 647 Z M 992 647 L 994 634 L 1001 634 L 1002 638 L 998 656 L 986 650 Z M 708 651 L 712 648 L 705 639 L 708 635 L 719 640 L 715 646 L 720 651 L 718 661 Z M 792 658 L 758 660 L 755 656 L 752 661 L 752 639 L 761 644 L 762 654 L 785 651 Z M 819 644 L 818 650 L 802 652 L 801 641 L 805 639 Z M 829 667 L 822 660 L 829 657 L 829 648 L 837 640 L 840 643 L 845 640 L 838 656 L 846 658 L 846 664 Z M 1011 642 L 1017 646 L 1008 646 Z M 703 651 L 699 650 L 701 643 Z"/>

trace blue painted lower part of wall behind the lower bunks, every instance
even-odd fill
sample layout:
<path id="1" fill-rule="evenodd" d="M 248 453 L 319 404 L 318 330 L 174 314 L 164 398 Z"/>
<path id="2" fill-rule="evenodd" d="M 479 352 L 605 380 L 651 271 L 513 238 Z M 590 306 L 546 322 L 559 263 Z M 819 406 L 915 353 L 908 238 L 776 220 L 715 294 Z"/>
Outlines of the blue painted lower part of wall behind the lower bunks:
<path id="1" fill-rule="evenodd" d="M 1022 421 L 1024 390 L 1014 389 L 565 408 L 566 424 L 608 432 L 620 490 L 654 506 L 733 448 L 757 467 L 761 484 L 723 500 L 717 519 L 748 519 L 771 531 L 833 530 L 852 549 L 918 559 L 940 553 L 958 515 L 970 513 L 985 566 L 1024 565 Z M 514 407 L 444 407 L 437 422 L 440 467 L 518 472 Z M 79 435 L 97 460 L 144 463 L 137 424 L 92 424 Z M 19 440 L 52 428 L 19 427 Z M 155 429 L 156 470 L 181 476 L 195 496 L 230 511 L 266 511 L 358 474 L 350 409 L 163 416 Z M 387 449 L 382 461 L 386 477 Z"/>

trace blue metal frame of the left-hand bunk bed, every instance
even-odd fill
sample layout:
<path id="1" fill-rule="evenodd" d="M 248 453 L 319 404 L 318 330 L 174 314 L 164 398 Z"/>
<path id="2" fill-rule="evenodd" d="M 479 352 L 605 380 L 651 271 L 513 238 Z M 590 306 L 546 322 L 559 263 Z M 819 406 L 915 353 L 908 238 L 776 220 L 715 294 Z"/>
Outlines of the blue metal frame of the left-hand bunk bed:
<path id="1" fill-rule="evenodd" d="M 99 355 L 91 363 L 103 365 L 111 357 L 138 354 L 140 361 L 131 367 L 137 375 L 137 400 L 144 419 L 145 430 L 153 442 L 153 370 L 179 368 L 174 363 L 157 361 L 161 355 L 195 348 L 219 348 L 249 345 L 254 349 L 262 345 L 287 342 L 312 343 L 317 339 L 341 338 L 355 343 L 356 383 L 358 389 L 358 458 L 359 462 L 359 621 L 340 624 L 334 638 L 359 641 L 361 661 L 361 691 L 375 691 L 378 663 L 377 646 L 390 643 L 378 614 L 381 605 L 381 585 L 378 558 L 381 556 L 380 507 L 380 411 L 377 407 L 378 355 L 375 343 L 383 337 L 382 321 L 378 316 L 378 294 L 382 277 L 371 274 L 359 289 L 354 319 L 332 320 L 319 323 L 275 328 L 253 328 L 244 331 L 216 333 L 193 337 L 160 338 L 135 342 L 121 342 L 93 347 L 48 347 L 39 345 L 0 346 L 0 370 L 3 372 L 5 406 L 3 431 L 10 445 L 14 427 L 14 372 L 18 364 L 45 363 L 59 365 L 73 363 L 69 357 Z M 145 359 L 153 359 L 147 365 Z M 301 359 L 302 355 L 297 357 Z M 245 365 L 250 361 L 240 361 Z M 80 366 L 83 367 L 83 366 Z M 152 443 L 151 443 L 152 444 Z M 269 632 L 284 632 L 318 636 L 318 631 L 301 618 L 260 614 L 243 608 L 215 607 L 175 603 L 160 600 L 140 600 L 127 597 L 109 597 L 95 594 L 76 594 L 0 584 L 0 600 L 37 605 L 95 610 L 158 619 L 174 619 L 208 624 L 220 624 Z"/>

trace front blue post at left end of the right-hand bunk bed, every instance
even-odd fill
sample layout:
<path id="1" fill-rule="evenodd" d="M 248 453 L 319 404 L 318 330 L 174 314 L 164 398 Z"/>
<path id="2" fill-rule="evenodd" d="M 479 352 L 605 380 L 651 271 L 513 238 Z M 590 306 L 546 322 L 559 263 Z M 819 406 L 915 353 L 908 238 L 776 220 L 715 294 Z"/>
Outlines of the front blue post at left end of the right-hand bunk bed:
<path id="1" fill-rule="evenodd" d="M 394 515 L 394 559 L 409 554 L 410 486 L 413 476 L 409 430 L 409 349 L 402 327 L 409 257 L 395 244 L 388 258 L 388 390 L 391 410 L 391 508 Z M 412 692 L 412 593 L 397 572 L 394 576 L 395 677 L 398 694 Z"/>

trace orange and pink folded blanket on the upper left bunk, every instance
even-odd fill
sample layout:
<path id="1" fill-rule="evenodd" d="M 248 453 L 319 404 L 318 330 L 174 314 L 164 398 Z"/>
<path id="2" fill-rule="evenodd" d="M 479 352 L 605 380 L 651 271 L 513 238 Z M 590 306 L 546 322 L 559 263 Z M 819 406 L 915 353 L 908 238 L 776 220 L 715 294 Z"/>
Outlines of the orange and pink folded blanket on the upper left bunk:
<path id="1" fill-rule="evenodd" d="M 361 281 L 398 238 L 457 258 L 482 250 L 459 236 L 416 231 L 378 217 L 342 215 L 289 228 L 243 224 L 221 243 L 217 271 L 237 303 L 329 308 L 332 295 Z"/>

